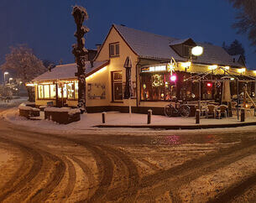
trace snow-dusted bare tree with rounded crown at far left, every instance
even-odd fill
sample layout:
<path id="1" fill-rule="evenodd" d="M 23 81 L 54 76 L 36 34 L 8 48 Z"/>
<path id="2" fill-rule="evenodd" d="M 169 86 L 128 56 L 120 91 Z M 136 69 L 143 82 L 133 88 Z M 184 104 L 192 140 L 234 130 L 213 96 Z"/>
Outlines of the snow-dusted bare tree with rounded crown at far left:
<path id="1" fill-rule="evenodd" d="M 0 66 L 0 69 L 11 72 L 13 77 L 26 83 L 47 70 L 43 62 L 33 54 L 32 49 L 29 49 L 26 44 L 19 44 L 10 49 L 11 53 L 5 56 L 6 62 Z M 32 88 L 27 87 L 27 91 L 29 101 L 33 101 Z"/>

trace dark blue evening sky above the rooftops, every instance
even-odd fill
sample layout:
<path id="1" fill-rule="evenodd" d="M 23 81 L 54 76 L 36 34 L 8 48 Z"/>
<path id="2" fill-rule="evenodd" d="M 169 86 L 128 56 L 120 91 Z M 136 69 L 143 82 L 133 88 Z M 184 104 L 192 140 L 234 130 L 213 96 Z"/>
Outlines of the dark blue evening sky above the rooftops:
<path id="1" fill-rule="evenodd" d="M 154 34 L 217 45 L 238 39 L 248 67 L 256 69 L 256 48 L 249 46 L 246 35 L 232 29 L 236 11 L 227 0 L 1 0 L 0 63 L 9 46 L 17 44 L 29 44 L 41 60 L 73 62 L 76 28 L 71 6 L 75 4 L 89 13 L 86 48 L 101 44 L 112 23 L 123 23 Z"/>

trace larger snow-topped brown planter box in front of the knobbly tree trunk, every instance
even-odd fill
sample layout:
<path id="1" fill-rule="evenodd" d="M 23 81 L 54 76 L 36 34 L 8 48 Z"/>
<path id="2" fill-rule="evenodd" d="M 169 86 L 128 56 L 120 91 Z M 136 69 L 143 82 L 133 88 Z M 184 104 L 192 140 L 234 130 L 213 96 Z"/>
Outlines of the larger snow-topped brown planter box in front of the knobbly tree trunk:
<path id="1" fill-rule="evenodd" d="M 60 124 L 78 122 L 81 119 L 80 115 L 81 113 L 80 111 L 77 111 L 77 109 L 55 107 L 44 108 L 44 119 L 58 122 Z"/>

